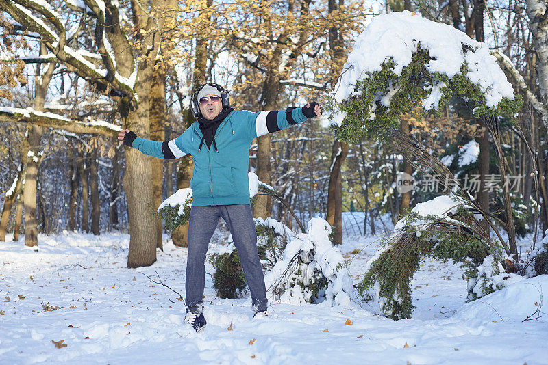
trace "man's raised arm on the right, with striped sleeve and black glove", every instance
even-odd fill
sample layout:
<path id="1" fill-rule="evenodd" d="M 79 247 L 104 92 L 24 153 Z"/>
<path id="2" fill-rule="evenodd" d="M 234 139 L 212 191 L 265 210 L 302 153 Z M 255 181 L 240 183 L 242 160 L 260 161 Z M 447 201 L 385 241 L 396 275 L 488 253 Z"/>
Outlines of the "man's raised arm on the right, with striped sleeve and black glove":
<path id="1" fill-rule="evenodd" d="M 291 107 L 286 110 L 261 111 L 256 113 L 254 120 L 251 121 L 250 132 L 253 137 L 260 137 L 295 124 L 301 124 L 309 118 L 321 116 L 321 113 L 322 107 L 316 102 L 310 102 L 301 108 Z"/>

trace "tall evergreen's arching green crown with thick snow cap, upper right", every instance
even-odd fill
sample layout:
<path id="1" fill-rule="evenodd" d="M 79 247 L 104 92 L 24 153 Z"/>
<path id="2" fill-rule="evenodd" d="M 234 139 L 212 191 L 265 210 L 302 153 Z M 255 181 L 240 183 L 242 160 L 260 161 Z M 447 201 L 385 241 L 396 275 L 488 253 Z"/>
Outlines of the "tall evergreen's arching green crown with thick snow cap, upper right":
<path id="1" fill-rule="evenodd" d="M 512 118 L 521 106 L 488 46 L 411 12 L 377 16 L 358 36 L 328 103 L 338 137 L 388 137 L 412 107 L 443 110 L 453 97 L 475 116 Z"/>

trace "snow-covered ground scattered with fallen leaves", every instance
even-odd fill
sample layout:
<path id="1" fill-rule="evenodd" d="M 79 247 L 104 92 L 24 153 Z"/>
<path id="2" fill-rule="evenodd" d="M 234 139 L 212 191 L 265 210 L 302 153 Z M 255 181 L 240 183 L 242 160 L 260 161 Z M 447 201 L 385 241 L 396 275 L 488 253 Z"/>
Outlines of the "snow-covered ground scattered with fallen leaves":
<path id="1" fill-rule="evenodd" d="M 379 237 L 345 237 L 355 283 Z M 177 295 L 142 275 L 158 272 L 184 296 L 186 249 L 171 241 L 151 267 L 127 269 L 127 234 L 40 235 L 37 251 L 9 239 L 0 243 L 1 364 L 548 364 L 548 310 L 522 322 L 542 305 L 547 275 L 465 303 L 461 269 L 426 261 L 403 321 L 369 303 L 325 302 L 271 303 L 268 319 L 252 319 L 249 297 L 216 298 L 206 275 L 208 325 L 196 333 Z"/>

